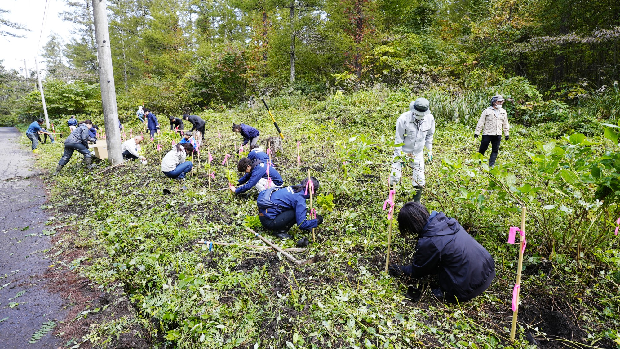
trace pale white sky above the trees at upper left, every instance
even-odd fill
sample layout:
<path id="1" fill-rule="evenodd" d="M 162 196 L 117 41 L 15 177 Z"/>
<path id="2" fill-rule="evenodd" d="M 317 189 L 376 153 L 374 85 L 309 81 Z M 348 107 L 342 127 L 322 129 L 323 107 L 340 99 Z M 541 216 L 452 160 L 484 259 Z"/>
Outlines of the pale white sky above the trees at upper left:
<path id="1" fill-rule="evenodd" d="M 43 9 L 47 1 L 47 14 L 45 22 L 43 22 Z M 0 9 L 11 11 L 4 14 L 4 18 L 25 25 L 30 32 L 24 30 L 12 30 L 23 38 L 0 36 L 0 60 L 4 60 L 2 65 L 5 68 L 14 68 L 20 73 L 24 71 L 24 58 L 28 70 L 35 69 L 35 57 L 37 56 L 37 45 L 39 43 L 39 35 L 41 43 L 38 52 L 42 52 L 42 47 L 47 43 L 50 33 L 53 31 L 63 38 L 64 42 L 68 42 L 73 24 L 64 22 L 59 13 L 68 10 L 64 0 L 0 0 Z M 42 30 L 43 22 L 43 30 Z M 7 30 L 5 27 L 4 30 Z M 38 61 L 43 60 L 39 57 Z M 39 69 L 45 69 L 45 63 L 39 63 Z"/>

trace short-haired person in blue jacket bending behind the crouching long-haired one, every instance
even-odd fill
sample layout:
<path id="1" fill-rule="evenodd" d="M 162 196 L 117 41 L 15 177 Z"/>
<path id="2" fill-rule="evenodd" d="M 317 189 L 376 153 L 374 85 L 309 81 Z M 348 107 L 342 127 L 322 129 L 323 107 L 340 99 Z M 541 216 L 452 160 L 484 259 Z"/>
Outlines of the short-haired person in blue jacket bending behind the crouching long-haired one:
<path id="1" fill-rule="evenodd" d="M 269 173 L 267 173 L 267 170 Z M 252 189 L 260 193 L 268 188 L 276 188 L 282 186 L 282 177 L 280 173 L 273 168 L 273 166 L 267 166 L 267 164 L 260 162 L 260 160 L 252 160 L 249 158 L 242 158 L 237 163 L 237 171 L 245 172 L 237 185 L 243 184 L 239 187 L 231 186 L 232 193 L 242 194 Z M 271 179 L 271 183 L 267 179 Z"/>

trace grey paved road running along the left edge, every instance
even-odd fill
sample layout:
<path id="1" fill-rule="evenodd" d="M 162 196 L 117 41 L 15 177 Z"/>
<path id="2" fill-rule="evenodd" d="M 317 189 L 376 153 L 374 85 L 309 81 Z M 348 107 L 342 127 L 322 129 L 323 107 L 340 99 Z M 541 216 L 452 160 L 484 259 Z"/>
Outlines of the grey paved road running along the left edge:
<path id="1" fill-rule="evenodd" d="M 41 252 L 52 247 L 51 237 L 42 233 L 48 214 L 39 208 L 47 200 L 45 185 L 34 156 L 20 147 L 20 136 L 14 127 L 0 127 L 0 343 L 3 349 L 55 349 L 64 342 L 52 330 L 28 343 L 43 322 L 58 324 L 67 310 L 60 294 L 44 288 L 51 260 Z"/>

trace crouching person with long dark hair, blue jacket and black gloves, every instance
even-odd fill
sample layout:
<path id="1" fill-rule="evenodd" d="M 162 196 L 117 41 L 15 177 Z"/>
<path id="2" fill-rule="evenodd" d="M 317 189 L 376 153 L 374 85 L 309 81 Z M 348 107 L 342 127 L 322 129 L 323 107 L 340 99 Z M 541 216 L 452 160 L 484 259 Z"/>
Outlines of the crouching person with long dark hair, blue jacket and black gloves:
<path id="1" fill-rule="evenodd" d="M 311 180 L 316 191 L 319 189 L 319 181 L 314 177 L 311 177 Z M 265 229 L 272 230 L 275 237 L 293 238 L 288 231 L 295 224 L 302 230 L 310 230 L 323 224 L 321 215 L 316 215 L 316 219 L 306 218 L 306 200 L 310 197 L 310 193 L 304 194 L 306 184 L 308 178 L 294 186 L 267 189 L 259 194 L 256 204 L 259 206 L 260 224 Z"/>

